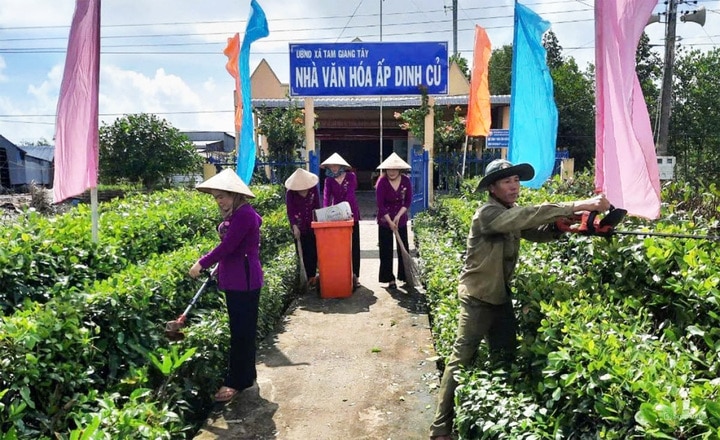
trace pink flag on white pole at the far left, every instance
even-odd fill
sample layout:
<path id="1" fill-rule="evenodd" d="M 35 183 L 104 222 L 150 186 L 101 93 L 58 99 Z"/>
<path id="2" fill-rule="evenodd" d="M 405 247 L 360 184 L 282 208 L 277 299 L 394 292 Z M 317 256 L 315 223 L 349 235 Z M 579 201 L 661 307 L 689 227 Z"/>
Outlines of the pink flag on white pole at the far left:
<path id="1" fill-rule="evenodd" d="M 76 0 L 55 127 L 55 203 L 97 186 L 100 0 Z"/>

